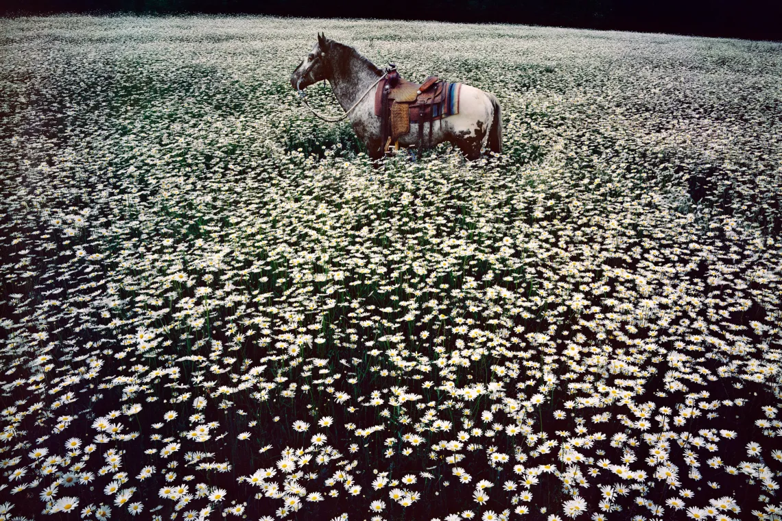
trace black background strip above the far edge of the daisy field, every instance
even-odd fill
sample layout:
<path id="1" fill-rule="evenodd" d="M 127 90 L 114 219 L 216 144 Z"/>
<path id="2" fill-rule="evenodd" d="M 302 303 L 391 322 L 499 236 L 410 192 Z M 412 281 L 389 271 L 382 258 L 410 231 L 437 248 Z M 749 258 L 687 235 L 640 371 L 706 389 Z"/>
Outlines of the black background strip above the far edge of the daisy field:
<path id="1" fill-rule="evenodd" d="M 225 13 L 526 23 L 782 41 L 782 0 L 10 0 L 0 14 Z"/>

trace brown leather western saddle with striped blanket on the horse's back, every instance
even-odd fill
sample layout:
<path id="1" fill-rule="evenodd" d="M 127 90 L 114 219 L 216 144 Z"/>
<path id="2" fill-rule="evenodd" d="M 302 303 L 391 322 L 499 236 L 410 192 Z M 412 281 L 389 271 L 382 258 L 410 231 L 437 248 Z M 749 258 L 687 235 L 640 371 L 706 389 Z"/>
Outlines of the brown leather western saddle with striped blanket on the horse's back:
<path id="1" fill-rule="evenodd" d="M 451 84 L 430 76 L 422 84 L 404 80 L 391 70 L 375 91 L 375 116 L 380 116 L 381 147 L 387 152 L 391 142 L 399 148 L 399 138 L 418 123 L 418 158 L 424 149 L 424 127 L 429 122 L 429 147 L 435 120 L 459 113 L 461 84 Z"/>

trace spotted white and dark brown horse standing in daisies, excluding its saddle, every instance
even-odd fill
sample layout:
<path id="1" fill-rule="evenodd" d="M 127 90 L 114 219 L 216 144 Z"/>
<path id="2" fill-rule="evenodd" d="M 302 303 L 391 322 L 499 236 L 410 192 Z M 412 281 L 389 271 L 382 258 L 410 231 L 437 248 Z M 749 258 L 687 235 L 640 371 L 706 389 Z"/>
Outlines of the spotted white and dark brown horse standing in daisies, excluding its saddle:
<path id="1" fill-rule="evenodd" d="M 388 73 L 388 70 L 385 72 Z M 386 155 L 386 147 L 381 143 L 381 116 L 375 115 L 375 91 L 386 73 L 355 48 L 330 40 L 325 34 L 318 34 L 317 43 L 293 71 L 290 81 L 292 87 L 303 96 L 303 89 L 318 81 L 328 80 L 339 105 L 346 111 L 340 120 L 350 117 L 353 131 L 364 143 L 370 158 L 380 159 Z M 487 145 L 491 152 L 501 153 L 502 120 L 497 97 L 461 84 L 458 107 L 457 114 L 430 123 L 429 146 L 448 141 L 456 145 L 468 160 L 478 159 L 482 148 Z M 410 122 L 409 125 L 410 131 L 400 136 L 398 143 L 409 147 L 418 142 L 420 146 L 421 142 L 416 139 L 419 123 Z"/>

